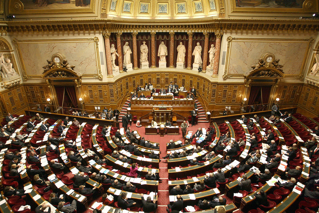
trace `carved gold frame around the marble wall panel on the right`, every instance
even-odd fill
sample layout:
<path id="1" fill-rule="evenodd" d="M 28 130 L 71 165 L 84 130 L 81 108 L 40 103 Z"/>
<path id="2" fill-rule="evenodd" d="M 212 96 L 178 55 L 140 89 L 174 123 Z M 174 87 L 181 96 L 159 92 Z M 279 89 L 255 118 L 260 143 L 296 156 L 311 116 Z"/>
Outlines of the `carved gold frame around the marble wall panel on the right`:
<path id="1" fill-rule="evenodd" d="M 305 72 L 305 68 L 306 68 L 306 63 L 307 63 L 307 59 L 308 59 L 308 56 L 309 56 L 310 48 L 311 48 L 312 42 L 314 41 L 314 38 L 306 38 L 306 39 L 267 39 L 267 38 L 234 38 L 234 37 L 228 36 L 227 37 L 226 64 L 225 64 L 225 70 L 224 70 L 224 74 L 223 74 L 223 79 L 227 79 L 227 78 L 242 78 L 244 76 L 244 73 L 243 74 L 228 74 L 229 56 L 230 56 L 230 50 L 231 50 L 232 41 L 308 42 L 308 48 L 307 48 L 306 54 L 305 54 L 305 56 L 303 58 L 302 65 L 301 65 L 301 71 L 300 71 L 299 75 L 285 75 L 286 78 L 295 78 L 295 79 L 302 80 L 304 78 L 304 72 Z"/>

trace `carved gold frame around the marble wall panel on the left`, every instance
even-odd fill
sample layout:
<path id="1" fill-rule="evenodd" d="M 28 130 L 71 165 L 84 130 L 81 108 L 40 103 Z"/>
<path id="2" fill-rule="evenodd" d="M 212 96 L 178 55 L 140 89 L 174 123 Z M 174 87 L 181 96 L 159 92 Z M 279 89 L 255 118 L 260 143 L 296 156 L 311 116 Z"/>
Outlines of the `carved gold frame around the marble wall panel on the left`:
<path id="1" fill-rule="evenodd" d="M 100 57 L 99 57 L 99 38 L 98 37 L 94 37 L 94 38 L 84 38 L 84 39 L 44 39 L 44 40 L 19 40 L 19 39 L 13 39 L 13 42 L 15 44 L 16 50 L 18 52 L 18 56 L 19 56 L 19 61 L 21 64 L 21 71 L 23 74 L 23 79 L 27 80 L 27 79 L 39 79 L 41 78 L 41 75 L 28 75 L 26 73 L 26 67 L 24 64 L 24 59 L 22 57 L 21 54 L 21 49 L 19 46 L 19 43 L 37 43 L 37 42 L 94 42 L 95 44 L 95 58 L 96 58 L 96 65 L 97 65 L 97 75 L 92 75 L 92 74 L 84 74 L 83 78 L 97 78 L 97 79 L 103 79 L 103 74 L 101 71 L 101 65 L 100 65 Z"/>

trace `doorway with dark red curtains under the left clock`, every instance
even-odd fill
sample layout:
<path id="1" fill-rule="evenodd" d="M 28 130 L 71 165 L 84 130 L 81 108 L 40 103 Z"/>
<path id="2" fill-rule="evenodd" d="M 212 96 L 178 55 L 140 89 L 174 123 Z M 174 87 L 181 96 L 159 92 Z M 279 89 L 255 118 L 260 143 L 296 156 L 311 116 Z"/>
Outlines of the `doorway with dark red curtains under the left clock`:
<path id="1" fill-rule="evenodd" d="M 59 110 L 57 113 L 70 115 L 73 109 L 78 108 L 78 98 L 75 86 L 54 86 L 56 90 L 56 99 L 59 107 L 68 107 Z"/>

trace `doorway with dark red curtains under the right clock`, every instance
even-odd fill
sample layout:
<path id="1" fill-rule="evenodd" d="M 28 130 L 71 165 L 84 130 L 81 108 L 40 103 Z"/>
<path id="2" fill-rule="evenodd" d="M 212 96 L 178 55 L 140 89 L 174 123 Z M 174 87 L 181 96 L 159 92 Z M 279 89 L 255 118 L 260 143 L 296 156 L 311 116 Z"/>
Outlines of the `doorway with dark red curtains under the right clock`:
<path id="1" fill-rule="evenodd" d="M 267 110 L 271 85 L 251 85 L 248 104 L 248 112 Z"/>

